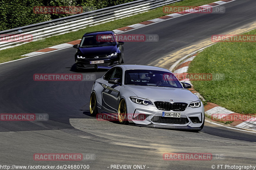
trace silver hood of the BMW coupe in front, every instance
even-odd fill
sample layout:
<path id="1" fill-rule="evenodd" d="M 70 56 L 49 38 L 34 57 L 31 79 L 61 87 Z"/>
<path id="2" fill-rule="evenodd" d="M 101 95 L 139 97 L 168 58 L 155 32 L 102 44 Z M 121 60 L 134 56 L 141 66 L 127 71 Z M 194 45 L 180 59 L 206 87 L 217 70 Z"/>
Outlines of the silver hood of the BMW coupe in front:
<path id="1" fill-rule="evenodd" d="M 139 86 L 139 85 L 124 85 L 124 88 L 134 92 L 138 97 L 144 99 L 178 99 L 197 101 L 198 97 L 187 89 L 157 87 L 157 86 Z M 174 100 L 174 101 L 178 101 Z"/>

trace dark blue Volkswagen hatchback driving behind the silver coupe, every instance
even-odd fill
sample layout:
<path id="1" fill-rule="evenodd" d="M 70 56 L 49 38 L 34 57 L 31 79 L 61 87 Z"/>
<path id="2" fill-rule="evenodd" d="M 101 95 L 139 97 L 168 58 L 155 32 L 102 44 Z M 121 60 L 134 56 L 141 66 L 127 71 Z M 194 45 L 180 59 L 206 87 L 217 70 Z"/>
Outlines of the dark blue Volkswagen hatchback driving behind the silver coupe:
<path id="1" fill-rule="evenodd" d="M 124 63 L 124 42 L 116 41 L 113 31 L 85 33 L 75 54 L 76 68 L 89 69 L 98 66 L 115 66 Z"/>

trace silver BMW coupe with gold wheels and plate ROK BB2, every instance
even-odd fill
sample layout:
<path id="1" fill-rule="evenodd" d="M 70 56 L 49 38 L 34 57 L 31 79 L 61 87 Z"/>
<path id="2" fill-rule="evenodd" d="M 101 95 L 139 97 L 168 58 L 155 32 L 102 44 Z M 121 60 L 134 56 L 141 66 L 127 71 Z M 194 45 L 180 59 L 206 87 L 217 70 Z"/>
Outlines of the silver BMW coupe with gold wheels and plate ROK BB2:
<path id="1" fill-rule="evenodd" d="M 117 65 L 94 82 L 90 113 L 122 124 L 200 131 L 204 105 L 187 88 L 164 68 Z"/>

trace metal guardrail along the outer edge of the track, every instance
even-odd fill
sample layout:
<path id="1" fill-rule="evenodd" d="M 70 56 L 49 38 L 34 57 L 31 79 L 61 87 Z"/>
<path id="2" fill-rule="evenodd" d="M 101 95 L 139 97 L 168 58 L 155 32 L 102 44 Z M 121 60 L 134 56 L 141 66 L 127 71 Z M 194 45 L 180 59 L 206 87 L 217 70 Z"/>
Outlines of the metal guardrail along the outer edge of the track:
<path id="1" fill-rule="evenodd" d="M 33 37 L 33 41 L 37 41 L 54 35 L 83 29 L 87 26 L 98 25 L 112 20 L 129 17 L 179 1 L 182 0 L 138 0 L 37 24 L 0 31 L 0 34 L 29 34 Z M 0 39 L 0 50 L 25 43 L 28 42 L 1 41 Z"/>

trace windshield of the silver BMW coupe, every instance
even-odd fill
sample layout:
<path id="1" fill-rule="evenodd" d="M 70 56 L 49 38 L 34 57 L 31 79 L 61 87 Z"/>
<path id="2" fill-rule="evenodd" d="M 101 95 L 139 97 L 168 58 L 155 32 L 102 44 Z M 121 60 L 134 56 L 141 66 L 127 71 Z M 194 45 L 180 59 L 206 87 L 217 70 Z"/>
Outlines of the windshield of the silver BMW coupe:
<path id="1" fill-rule="evenodd" d="M 158 70 L 126 70 L 124 84 L 183 88 L 174 74 Z"/>

